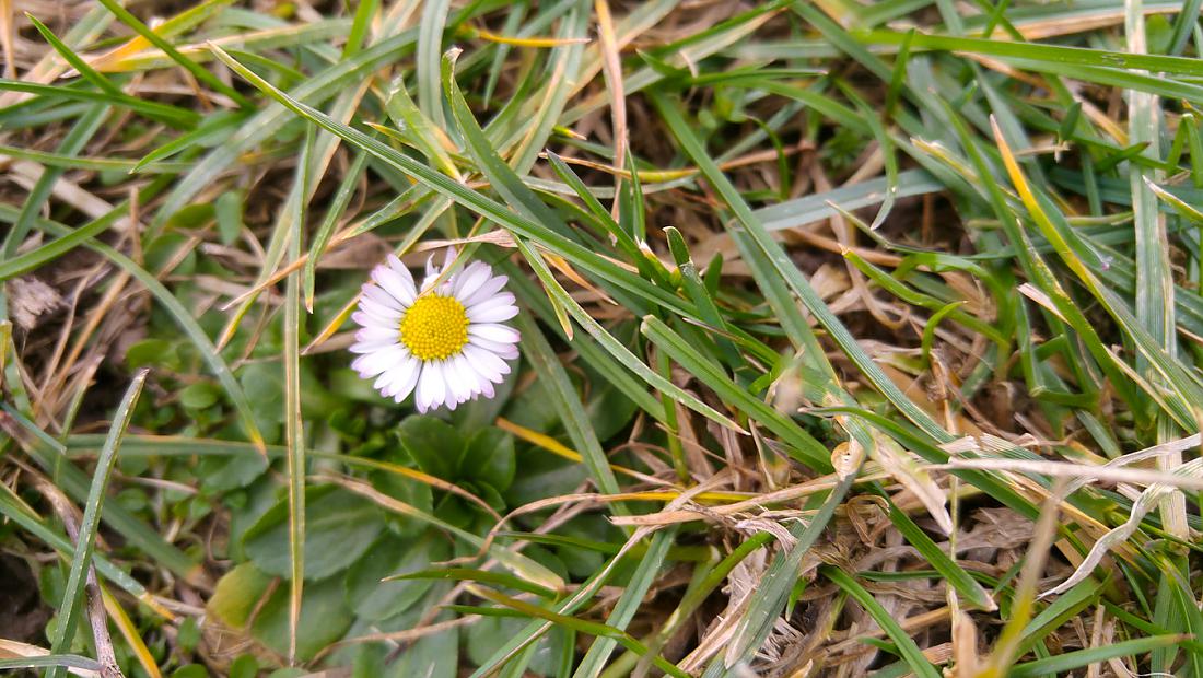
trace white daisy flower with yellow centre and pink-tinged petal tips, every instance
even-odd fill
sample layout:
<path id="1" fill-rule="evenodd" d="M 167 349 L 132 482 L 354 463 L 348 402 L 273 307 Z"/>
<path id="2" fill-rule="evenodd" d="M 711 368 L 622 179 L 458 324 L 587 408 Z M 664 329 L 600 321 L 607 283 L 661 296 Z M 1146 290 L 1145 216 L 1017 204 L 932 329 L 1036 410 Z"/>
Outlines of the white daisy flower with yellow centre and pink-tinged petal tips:
<path id="1" fill-rule="evenodd" d="M 518 355 L 518 332 L 503 325 L 518 313 L 514 295 L 503 291 L 508 278 L 476 261 L 438 281 L 454 258 L 449 249 L 438 267 L 432 256 L 419 292 L 405 264 L 389 255 L 351 315 L 363 326 L 351 367 L 397 403 L 413 392 L 419 412 L 492 398 L 493 385 L 510 373 L 505 361 Z"/>

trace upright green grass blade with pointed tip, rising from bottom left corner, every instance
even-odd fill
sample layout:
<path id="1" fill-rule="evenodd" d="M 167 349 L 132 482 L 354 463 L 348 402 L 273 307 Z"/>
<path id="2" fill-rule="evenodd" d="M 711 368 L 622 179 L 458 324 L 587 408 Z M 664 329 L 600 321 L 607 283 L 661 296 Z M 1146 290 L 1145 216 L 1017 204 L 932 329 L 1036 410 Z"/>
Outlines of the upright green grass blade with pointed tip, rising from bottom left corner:
<path id="1" fill-rule="evenodd" d="M 130 387 L 125 391 L 125 396 L 113 415 L 113 424 L 108 429 L 105 446 L 100 451 L 100 457 L 96 458 L 96 470 L 91 476 L 88 502 L 84 505 L 83 517 L 79 519 L 79 539 L 71 557 L 71 570 L 63 590 L 58 623 L 54 625 L 51 644 L 51 652 L 54 654 L 70 649 L 79 618 L 83 615 L 84 588 L 88 581 L 88 570 L 91 567 L 93 549 L 96 546 L 96 530 L 100 529 L 101 505 L 105 501 L 113 465 L 117 463 L 117 451 L 122 446 L 122 438 L 130 426 L 130 420 L 134 418 L 134 405 L 137 404 L 138 396 L 142 393 L 142 385 L 146 383 L 148 371 L 140 371 L 130 382 Z M 57 666 L 51 671 L 51 677 L 61 678 L 65 672 L 63 666 Z"/>

